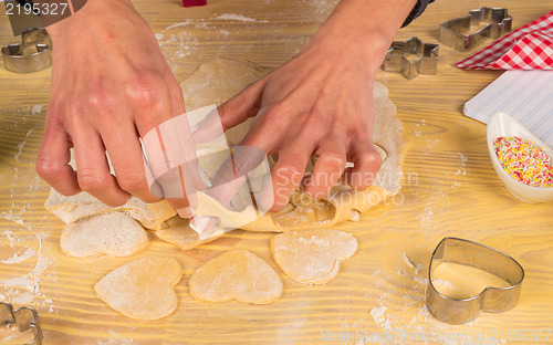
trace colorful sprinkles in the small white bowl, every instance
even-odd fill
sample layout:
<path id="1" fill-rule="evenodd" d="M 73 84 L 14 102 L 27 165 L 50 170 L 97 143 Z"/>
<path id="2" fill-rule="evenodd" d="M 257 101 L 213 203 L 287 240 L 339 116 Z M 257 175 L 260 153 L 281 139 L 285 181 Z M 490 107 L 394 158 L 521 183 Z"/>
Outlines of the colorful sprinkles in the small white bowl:
<path id="1" fill-rule="evenodd" d="M 493 143 L 501 166 L 515 180 L 534 187 L 553 187 L 553 164 L 543 148 L 519 137 L 499 137 Z"/>

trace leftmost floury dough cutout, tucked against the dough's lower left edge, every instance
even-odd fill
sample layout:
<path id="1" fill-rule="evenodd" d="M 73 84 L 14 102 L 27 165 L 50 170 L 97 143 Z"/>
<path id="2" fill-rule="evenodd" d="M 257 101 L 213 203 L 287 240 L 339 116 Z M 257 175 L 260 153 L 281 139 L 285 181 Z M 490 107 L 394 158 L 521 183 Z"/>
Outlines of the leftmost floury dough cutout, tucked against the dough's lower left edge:
<path id="1" fill-rule="evenodd" d="M 131 216 L 107 212 L 67 224 L 60 245 L 65 254 L 80 259 L 129 257 L 148 245 L 148 236 Z"/>

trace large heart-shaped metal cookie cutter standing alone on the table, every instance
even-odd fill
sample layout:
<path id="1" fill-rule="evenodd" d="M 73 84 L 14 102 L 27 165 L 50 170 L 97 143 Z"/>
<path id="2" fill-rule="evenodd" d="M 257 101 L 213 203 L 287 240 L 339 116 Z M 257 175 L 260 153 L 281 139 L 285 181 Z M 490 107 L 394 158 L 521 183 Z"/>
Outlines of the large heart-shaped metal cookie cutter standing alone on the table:
<path id="1" fill-rule="evenodd" d="M 462 300 L 445 296 L 436 290 L 431 279 L 440 262 L 483 270 L 503 279 L 510 286 L 488 286 L 478 295 Z M 513 309 L 519 302 L 523 279 L 524 270 L 508 254 L 480 243 L 448 237 L 440 241 L 432 253 L 426 302 L 436 318 L 449 324 L 463 324 L 477 318 L 481 312 L 501 313 Z"/>

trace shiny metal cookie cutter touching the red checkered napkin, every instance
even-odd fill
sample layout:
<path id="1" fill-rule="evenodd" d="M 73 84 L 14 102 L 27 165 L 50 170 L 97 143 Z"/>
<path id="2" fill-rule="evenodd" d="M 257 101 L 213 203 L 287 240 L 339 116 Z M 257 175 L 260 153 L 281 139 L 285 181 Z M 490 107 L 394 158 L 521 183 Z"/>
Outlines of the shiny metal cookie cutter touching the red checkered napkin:
<path id="1" fill-rule="evenodd" d="M 440 42 L 465 52 L 488 39 L 499 39 L 511 31 L 513 18 L 507 9 L 483 7 L 469 11 L 469 15 L 445 21 L 440 24 Z M 467 33 L 471 27 L 482 25 L 473 33 Z"/>

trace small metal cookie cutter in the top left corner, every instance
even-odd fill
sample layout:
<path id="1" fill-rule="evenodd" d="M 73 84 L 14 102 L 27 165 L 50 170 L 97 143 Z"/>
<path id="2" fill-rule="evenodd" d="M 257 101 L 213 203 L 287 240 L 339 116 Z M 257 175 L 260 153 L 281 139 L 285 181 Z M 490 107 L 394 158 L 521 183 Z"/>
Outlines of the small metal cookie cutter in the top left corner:
<path id="1" fill-rule="evenodd" d="M 30 29 L 21 34 L 21 43 L 2 46 L 6 70 L 30 73 L 52 65 L 52 40 L 45 29 Z"/>

